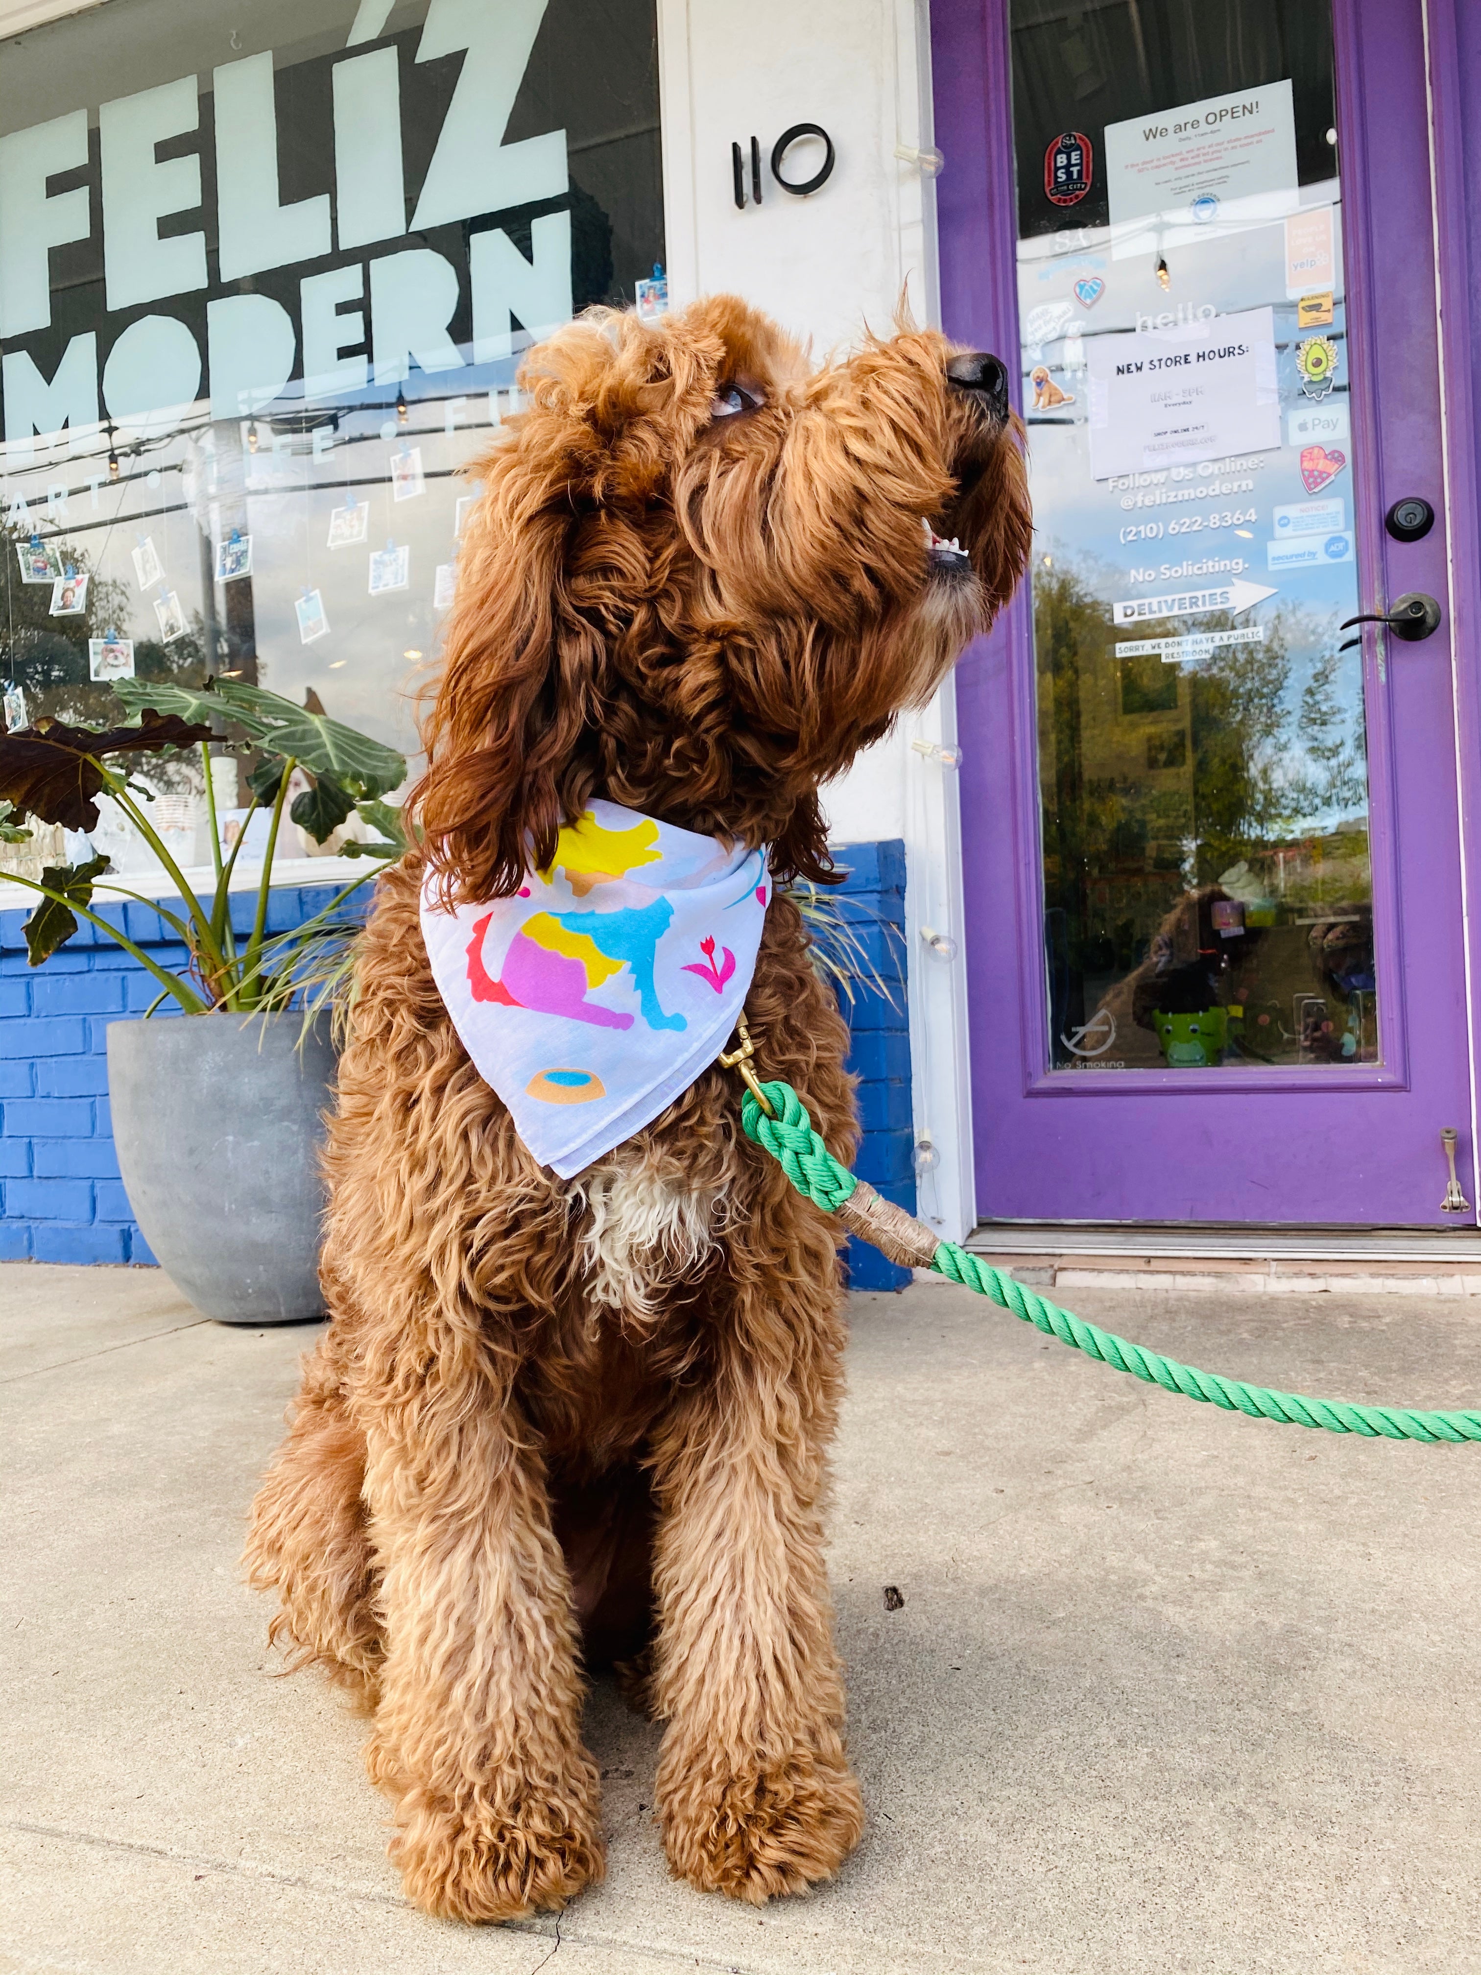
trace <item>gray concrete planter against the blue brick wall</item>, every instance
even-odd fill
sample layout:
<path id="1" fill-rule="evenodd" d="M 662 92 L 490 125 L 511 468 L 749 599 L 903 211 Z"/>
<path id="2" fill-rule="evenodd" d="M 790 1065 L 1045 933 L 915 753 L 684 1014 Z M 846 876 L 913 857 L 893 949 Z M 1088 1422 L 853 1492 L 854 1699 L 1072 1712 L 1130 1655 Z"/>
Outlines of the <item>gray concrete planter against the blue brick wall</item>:
<path id="1" fill-rule="evenodd" d="M 162 1268 L 221 1323 L 316 1317 L 334 1086 L 322 1035 L 298 1015 L 115 1021 L 113 1142 L 128 1205 Z"/>

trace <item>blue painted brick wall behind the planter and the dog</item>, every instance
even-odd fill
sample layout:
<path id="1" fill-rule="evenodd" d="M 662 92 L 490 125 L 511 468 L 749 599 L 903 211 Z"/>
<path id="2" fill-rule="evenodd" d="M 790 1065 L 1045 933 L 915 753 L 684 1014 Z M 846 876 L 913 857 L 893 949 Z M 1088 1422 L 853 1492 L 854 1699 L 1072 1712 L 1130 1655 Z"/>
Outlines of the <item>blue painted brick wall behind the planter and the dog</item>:
<path id="1" fill-rule="evenodd" d="M 895 1003 L 865 986 L 841 1003 L 865 1130 L 857 1171 L 914 1211 L 904 843 L 849 843 L 837 861 L 849 875 L 833 897 Z M 332 897 L 332 887 L 318 885 L 274 891 L 269 930 L 286 932 Z M 233 926 L 243 934 L 253 908 L 251 893 L 233 895 Z M 158 912 L 126 905 L 103 916 L 118 922 L 118 914 L 150 958 L 184 968 L 186 952 Z M 158 984 L 87 922 L 43 968 L 30 968 L 26 916 L 0 912 L 0 1260 L 152 1264 L 113 1151 L 107 1037 L 111 1021 L 144 1013 Z M 849 1242 L 849 1280 L 859 1290 L 898 1290 L 910 1276 Z"/>

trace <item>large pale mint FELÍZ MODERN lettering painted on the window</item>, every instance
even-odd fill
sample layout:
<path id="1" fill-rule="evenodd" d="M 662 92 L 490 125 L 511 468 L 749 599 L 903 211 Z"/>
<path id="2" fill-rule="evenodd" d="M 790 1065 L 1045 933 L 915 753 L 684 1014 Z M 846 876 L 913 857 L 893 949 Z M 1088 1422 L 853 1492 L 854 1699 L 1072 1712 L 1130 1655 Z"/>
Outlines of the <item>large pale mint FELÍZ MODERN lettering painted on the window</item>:
<path id="1" fill-rule="evenodd" d="M 288 198 L 280 184 L 292 93 L 304 85 L 271 49 L 223 63 L 203 83 L 186 75 L 101 103 L 95 176 L 65 192 L 49 184 L 89 166 L 87 109 L 0 136 L 0 397 L 12 464 L 38 434 L 63 434 L 67 446 L 65 434 L 103 417 L 168 423 L 195 389 L 213 417 L 251 417 L 294 379 L 306 397 L 353 391 L 367 377 L 399 383 L 413 367 L 462 367 L 464 338 L 474 363 L 498 361 L 567 320 L 569 205 L 537 213 L 523 235 L 486 223 L 571 192 L 563 126 L 506 142 L 549 6 L 429 0 L 413 61 L 436 75 L 444 107 L 419 188 L 407 184 L 407 158 L 423 132 L 405 128 L 395 45 L 326 63 L 324 190 L 308 196 Z M 186 138 L 194 144 L 182 150 Z M 207 144 L 215 229 L 176 227 L 201 205 Z M 162 158 L 162 146 L 174 154 Z M 87 241 L 95 215 L 107 314 L 55 348 L 51 249 Z M 450 227 L 458 233 L 427 243 Z M 409 231 L 417 245 L 399 253 L 318 269 L 336 251 L 391 249 Z M 286 271 L 304 273 L 292 280 Z M 235 292 L 243 280 L 259 292 Z M 115 320 L 201 292 L 203 308 Z M 359 306 L 348 310 L 351 302 Z M 462 318 L 470 338 L 454 336 Z M 34 346 L 16 348 L 22 340 Z M 353 354 L 361 344 L 365 356 Z"/>

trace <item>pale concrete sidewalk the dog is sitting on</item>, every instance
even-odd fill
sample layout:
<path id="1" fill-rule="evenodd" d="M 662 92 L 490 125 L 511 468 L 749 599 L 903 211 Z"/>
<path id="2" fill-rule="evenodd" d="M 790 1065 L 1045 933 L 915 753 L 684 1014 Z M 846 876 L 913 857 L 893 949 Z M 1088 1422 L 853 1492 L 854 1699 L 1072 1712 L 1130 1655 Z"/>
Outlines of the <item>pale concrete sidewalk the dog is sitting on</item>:
<path id="1" fill-rule="evenodd" d="M 1481 1400 L 1471 1300 L 1066 1302 L 1287 1390 Z M 363 1726 L 265 1653 L 241 1527 L 314 1333 L 197 1321 L 152 1270 L 0 1270 L 0 1969 L 1481 1967 L 1481 1448 L 1216 1414 L 944 1284 L 853 1319 L 865 1843 L 760 1914 L 673 1884 L 658 1732 L 598 1685 L 608 1878 L 557 1945 L 411 1912 Z"/>

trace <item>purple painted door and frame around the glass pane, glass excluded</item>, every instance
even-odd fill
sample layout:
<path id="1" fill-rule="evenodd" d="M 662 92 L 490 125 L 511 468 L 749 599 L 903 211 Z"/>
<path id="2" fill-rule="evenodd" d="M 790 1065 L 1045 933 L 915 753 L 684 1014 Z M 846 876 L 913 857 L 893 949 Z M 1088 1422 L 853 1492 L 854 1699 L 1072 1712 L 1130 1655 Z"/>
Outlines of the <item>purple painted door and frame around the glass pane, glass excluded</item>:
<path id="1" fill-rule="evenodd" d="M 1382 1065 L 1045 1070 L 1047 991 L 1027 589 L 958 668 L 977 1213 L 993 1221 L 1473 1226 L 1442 1215 L 1442 1126 L 1475 1187 L 1465 837 L 1481 828 L 1481 628 L 1459 0 L 1335 0 L 1363 606 L 1430 591 L 1422 646 L 1364 644 Z M 1477 41 L 1471 47 L 1471 40 Z M 934 0 L 942 316 L 1017 375 L 1007 0 Z M 1426 61 L 1432 75 L 1426 75 Z M 1440 397 L 1428 83 L 1447 389 Z M 1475 105 L 1481 107 L 1481 105 Z M 1368 198 L 1374 172 L 1382 196 Z M 1477 207 L 1469 207 L 1475 211 Z M 1382 308 L 1376 306 L 1382 298 Z M 1442 519 L 1392 543 L 1382 514 Z M 1451 634 L 1461 640 L 1455 662 Z M 1457 750 L 1459 735 L 1459 750 Z M 1463 802 L 1457 798 L 1461 782 Z M 1469 1183 L 1467 1183 L 1469 1181 Z"/>

